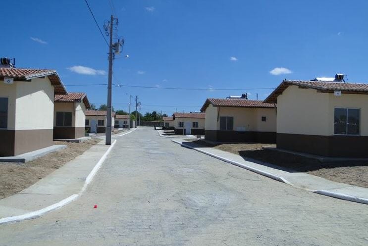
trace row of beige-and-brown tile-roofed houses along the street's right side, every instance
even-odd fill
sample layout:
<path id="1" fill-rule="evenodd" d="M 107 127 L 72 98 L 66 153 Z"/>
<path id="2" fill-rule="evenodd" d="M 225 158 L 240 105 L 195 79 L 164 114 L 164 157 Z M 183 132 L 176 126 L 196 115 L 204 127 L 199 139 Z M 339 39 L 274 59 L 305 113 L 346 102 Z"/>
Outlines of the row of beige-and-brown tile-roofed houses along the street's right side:
<path id="1" fill-rule="evenodd" d="M 368 84 L 345 83 L 342 75 L 283 80 L 263 101 L 208 98 L 201 112 L 174 113 L 164 124 L 176 134 L 204 133 L 216 142 L 276 143 L 322 156 L 368 157 Z"/>

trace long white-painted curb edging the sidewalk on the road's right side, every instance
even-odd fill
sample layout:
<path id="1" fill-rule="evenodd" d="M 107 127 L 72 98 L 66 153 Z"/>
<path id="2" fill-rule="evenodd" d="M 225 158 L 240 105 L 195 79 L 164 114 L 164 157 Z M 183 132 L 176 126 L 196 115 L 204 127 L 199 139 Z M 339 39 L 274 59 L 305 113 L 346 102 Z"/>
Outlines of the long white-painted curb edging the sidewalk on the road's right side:
<path id="1" fill-rule="evenodd" d="M 253 168 L 253 167 L 250 167 L 250 166 L 247 166 L 247 165 L 244 165 L 242 163 L 239 163 L 239 162 L 236 162 L 236 161 L 232 161 L 232 160 L 229 160 L 229 159 L 226 159 L 226 158 L 223 158 L 221 156 L 218 156 L 218 155 L 215 155 L 215 154 L 212 154 L 210 152 L 207 152 L 205 150 L 202 150 L 202 149 L 198 149 L 198 148 L 194 148 L 194 147 L 191 147 L 189 145 L 186 145 L 184 143 L 180 143 L 176 140 L 171 140 L 171 142 L 174 142 L 176 144 L 179 144 L 180 146 L 182 147 L 185 147 L 185 148 L 190 148 L 190 149 L 194 149 L 194 150 L 197 150 L 198 152 L 201 152 L 201 153 L 204 153 L 204 154 L 207 154 L 207 155 L 210 155 L 211 157 L 214 157 L 216 159 L 219 159 L 219 160 L 222 160 L 222 161 L 225 161 L 227 163 L 230 163 L 230 164 L 233 164 L 233 165 L 236 165 L 236 166 L 239 166 L 239 167 L 242 167 L 244 169 L 247 169 L 249 171 L 252 171 L 252 172 L 255 172 L 255 173 L 258 173 L 258 174 L 261 174 L 263 176 L 266 176 L 268 178 L 271 178 L 271 179 L 274 179 L 276 181 L 279 181 L 279 182 L 282 182 L 282 183 L 285 183 L 285 184 L 288 184 L 288 185 L 291 185 L 293 187 L 296 187 L 296 188 L 300 188 L 300 189 L 303 189 L 303 190 L 306 190 L 306 191 L 309 191 L 309 192 L 313 192 L 315 194 L 319 194 L 319 195 L 323 195 L 323 196 L 327 196 L 327 197 L 334 197 L 334 198 L 338 198 L 338 199 L 342 199 L 342 200 L 348 200 L 348 201 L 354 201 L 354 202 L 359 202 L 359 203 L 363 203 L 363 204 L 368 204 L 368 199 L 367 198 L 363 198 L 363 197 L 354 197 L 354 196 L 350 196 L 350 195 L 346 195 L 346 194 L 341 194 L 341 193 L 335 193 L 335 192 L 329 192 L 329 191 L 325 191 L 325 190 L 310 190 L 310 189 L 305 189 L 303 187 L 300 187 L 300 186 L 296 186 L 294 185 L 293 183 L 289 182 L 288 180 L 286 180 L 285 178 L 283 177 L 280 177 L 280 176 L 277 176 L 277 175 L 274 175 L 274 174 L 271 174 L 271 173 L 268 173 L 268 172 L 265 172 L 265 171 L 262 171 L 262 170 L 259 170 L 259 169 L 256 169 L 256 168 Z"/>

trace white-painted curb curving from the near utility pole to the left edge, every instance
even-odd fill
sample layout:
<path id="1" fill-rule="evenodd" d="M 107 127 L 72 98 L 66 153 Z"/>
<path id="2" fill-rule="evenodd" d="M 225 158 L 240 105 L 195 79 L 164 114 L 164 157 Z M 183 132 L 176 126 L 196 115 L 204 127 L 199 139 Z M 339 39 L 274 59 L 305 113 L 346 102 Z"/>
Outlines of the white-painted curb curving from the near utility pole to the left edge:
<path id="1" fill-rule="evenodd" d="M 59 209 L 59 208 L 65 206 L 66 204 L 76 200 L 78 197 L 80 197 L 83 194 L 83 192 L 86 190 L 87 186 L 91 183 L 93 177 L 96 175 L 97 171 L 100 169 L 100 167 L 104 163 L 107 155 L 110 153 L 111 149 L 115 146 L 115 143 L 116 143 L 116 139 L 112 143 L 112 145 L 106 150 L 106 152 L 100 158 L 100 160 L 97 162 L 97 164 L 92 169 L 92 171 L 88 174 L 88 176 L 87 176 L 87 178 L 84 182 L 84 186 L 82 187 L 79 194 L 73 194 L 70 197 L 62 199 L 61 201 L 59 201 L 57 203 L 54 203 L 50 206 L 44 207 L 40 210 L 32 211 L 32 212 L 21 214 L 21 215 L 0 218 L 0 225 L 5 224 L 5 223 L 11 223 L 11 222 L 19 222 L 19 221 L 23 221 L 23 220 L 27 220 L 27 219 L 34 219 L 34 218 L 40 217 L 40 216 L 42 216 L 42 215 L 44 215 L 48 212 Z"/>

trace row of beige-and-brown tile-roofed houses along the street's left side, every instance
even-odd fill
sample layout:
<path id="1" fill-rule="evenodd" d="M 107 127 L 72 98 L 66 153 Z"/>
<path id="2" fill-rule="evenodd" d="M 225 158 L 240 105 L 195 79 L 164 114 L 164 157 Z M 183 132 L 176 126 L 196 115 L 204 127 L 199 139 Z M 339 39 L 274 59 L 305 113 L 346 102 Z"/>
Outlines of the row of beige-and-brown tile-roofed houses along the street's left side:
<path id="1" fill-rule="evenodd" d="M 105 132 L 106 111 L 90 110 L 85 93 L 68 93 L 55 70 L 0 67 L 0 81 L 0 156 Z M 129 116 L 111 118 L 115 128 L 135 126 Z"/>

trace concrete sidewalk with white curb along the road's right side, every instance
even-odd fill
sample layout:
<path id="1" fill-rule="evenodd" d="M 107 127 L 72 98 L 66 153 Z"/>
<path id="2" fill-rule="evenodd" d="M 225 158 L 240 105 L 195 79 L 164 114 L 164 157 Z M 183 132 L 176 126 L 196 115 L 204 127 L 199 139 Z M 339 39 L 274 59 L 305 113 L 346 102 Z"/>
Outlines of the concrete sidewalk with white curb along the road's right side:
<path id="1" fill-rule="evenodd" d="M 288 172 L 269 163 L 258 160 L 254 160 L 254 162 L 247 161 L 240 155 L 203 147 L 192 142 L 171 141 L 294 187 L 320 195 L 368 204 L 368 188 L 333 182 L 307 173 Z"/>

